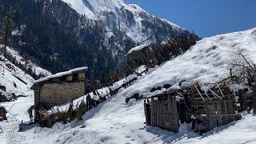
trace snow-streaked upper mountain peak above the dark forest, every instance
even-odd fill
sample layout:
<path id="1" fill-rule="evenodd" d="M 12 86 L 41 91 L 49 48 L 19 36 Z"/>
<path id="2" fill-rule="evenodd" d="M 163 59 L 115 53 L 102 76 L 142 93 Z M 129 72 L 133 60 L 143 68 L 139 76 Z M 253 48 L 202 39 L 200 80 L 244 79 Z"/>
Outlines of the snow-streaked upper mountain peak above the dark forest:
<path id="1" fill-rule="evenodd" d="M 65 14 L 65 2 L 76 14 Z M 104 38 L 98 48 L 106 47 L 113 56 L 121 57 L 130 48 L 142 43 L 158 43 L 166 38 L 190 34 L 189 31 L 165 19 L 156 18 L 135 4 L 122 0 L 54 0 L 51 5 L 59 22 L 86 40 L 85 30 L 101 29 Z"/>

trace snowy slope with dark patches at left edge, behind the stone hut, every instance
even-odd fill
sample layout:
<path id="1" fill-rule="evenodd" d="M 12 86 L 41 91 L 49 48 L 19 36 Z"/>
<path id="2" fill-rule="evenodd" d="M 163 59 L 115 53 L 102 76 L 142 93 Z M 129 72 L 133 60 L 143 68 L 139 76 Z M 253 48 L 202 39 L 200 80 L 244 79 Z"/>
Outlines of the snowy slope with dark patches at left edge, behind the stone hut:
<path id="1" fill-rule="evenodd" d="M 0 45 L 0 50 L 2 47 Z M 7 56 L 12 62 L 0 54 L 0 86 L 6 87 L 7 96 L 10 97 L 11 94 L 27 96 L 27 92 L 32 91 L 30 86 L 34 83 L 34 78 L 30 74 L 38 78 L 51 74 L 30 60 L 22 58 L 18 51 L 10 47 L 6 47 L 6 50 L 8 51 Z"/>

